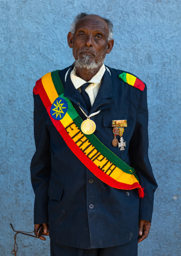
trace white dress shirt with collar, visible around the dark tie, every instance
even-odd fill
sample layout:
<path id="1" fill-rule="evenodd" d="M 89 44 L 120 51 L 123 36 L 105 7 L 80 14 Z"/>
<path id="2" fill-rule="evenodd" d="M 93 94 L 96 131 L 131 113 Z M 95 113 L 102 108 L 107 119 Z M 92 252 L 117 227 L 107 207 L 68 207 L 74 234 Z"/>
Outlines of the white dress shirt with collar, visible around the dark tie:
<path id="1" fill-rule="evenodd" d="M 104 75 L 104 72 L 105 72 L 105 66 L 104 66 L 104 63 L 103 63 L 102 67 L 100 67 L 97 74 L 95 76 L 93 76 L 92 79 L 90 79 L 90 81 L 88 81 L 88 82 L 84 81 L 82 78 L 80 78 L 76 75 L 76 68 L 75 67 L 73 68 L 73 70 L 71 72 L 72 83 L 75 86 L 75 88 L 79 90 L 79 92 L 81 92 L 80 87 L 84 83 L 90 83 L 90 85 L 85 89 L 85 91 L 87 92 L 87 94 L 90 98 L 91 106 L 93 105 L 93 103 L 95 101 L 95 97 L 97 96 L 97 93 L 99 91 L 100 84 L 102 82 L 102 77 Z"/>

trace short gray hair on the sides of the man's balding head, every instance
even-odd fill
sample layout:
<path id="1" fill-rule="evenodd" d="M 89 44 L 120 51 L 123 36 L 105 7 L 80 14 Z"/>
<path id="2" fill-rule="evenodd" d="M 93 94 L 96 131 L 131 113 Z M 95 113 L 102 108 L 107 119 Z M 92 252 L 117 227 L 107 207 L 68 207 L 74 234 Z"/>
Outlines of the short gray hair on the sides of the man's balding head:
<path id="1" fill-rule="evenodd" d="M 70 28 L 70 32 L 72 34 L 74 34 L 74 32 L 75 32 L 75 27 L 76 27 L 77 22 L 87 15 L 89 15 L 89 14 L 86 12 L 81 12 L 81 13 L 77 14 L 77 16 L 74 18 L 74 20 L 71 24 L 71 28 Z M 101 17 L 101 16 L 99 16 L 99 17 Z M 105 22 L 107 22 L 107 24 L 108 24 L 108 27 L 109 27 L 108 41 L 109 41 L 109 40 L 113 39 L 113 23 L 107 18 L 103 18 L 103 17 L 101 17 L 101 18 L 103 20 L 105 20 Z"/>

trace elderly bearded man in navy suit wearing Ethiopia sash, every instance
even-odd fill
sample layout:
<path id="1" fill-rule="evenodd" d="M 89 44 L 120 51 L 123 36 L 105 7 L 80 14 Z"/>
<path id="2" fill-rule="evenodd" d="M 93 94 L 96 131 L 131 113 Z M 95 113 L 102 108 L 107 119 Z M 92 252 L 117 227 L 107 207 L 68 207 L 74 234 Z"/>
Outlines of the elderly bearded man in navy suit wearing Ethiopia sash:
<path id="1" fill-rule="evenodd" d="M 53 256 L 135 256 L 157 184 L 148 158 L 146 86 L 104 65 L 108 19 L 81 13 L 68 33 L 75 62 L 36 82 L 31 162 L 35 234 Z M 144 188 L 144 190 L 143 190 Z"/>

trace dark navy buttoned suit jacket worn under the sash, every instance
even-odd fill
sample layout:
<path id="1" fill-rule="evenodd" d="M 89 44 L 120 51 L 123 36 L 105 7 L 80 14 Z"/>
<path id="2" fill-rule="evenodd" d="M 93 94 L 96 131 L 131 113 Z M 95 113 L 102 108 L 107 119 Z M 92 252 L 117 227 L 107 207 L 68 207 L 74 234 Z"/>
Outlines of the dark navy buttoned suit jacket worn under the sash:
<path id="1" fill-rule="evenodd" d="M 83 120 L 78 106 L 86 105 L 70 79 L 71 66 L 59 71 L 68 97 Z M 157 184 L 148 158 L 148 108 L 144 91 L 118 77 L 123 71 L 106 70 L 89 114 L 96 124 L 95 136 L 125 163 L 134 167 L 144 198 L 138 190 L 115 189 L 99 180 L 68 148 L 53 126 L 40 99 L 34 96 L 36 152 L 31 162 L 35 192 L 34 223 L 49 223 L 50 239 L 58 244 L 83 249 L 119 246 L 138 237 L 139 219 L 151 221 Z M 111 74 L 111 75 L 110 75 Z M 126 119 L 125 150 L 113 147 L 112 120 Z M 118 137 L 118 136 L 117 136 Z M 93 183 L 89 183 L 93 179 Z M 126 195 L 127 194 L 127 195 Z M 93 204 L 94 208 L 89 209 Z"/>

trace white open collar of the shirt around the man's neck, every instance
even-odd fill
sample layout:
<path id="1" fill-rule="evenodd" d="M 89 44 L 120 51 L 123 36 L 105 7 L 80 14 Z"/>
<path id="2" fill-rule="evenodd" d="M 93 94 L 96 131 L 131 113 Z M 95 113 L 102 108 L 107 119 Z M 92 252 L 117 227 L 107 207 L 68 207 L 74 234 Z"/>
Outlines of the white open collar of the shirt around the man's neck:
<path id="1" fill-rule="evenodd" d="M 95 76 L 93 76 L 90 81 L 88 81 L 88 83 L 100 83 L 103 75 L 105 72 L 105 66 L 104 63 L 102 65 L 102 67 L 100 67 L 99 71 L 97 72 L 97 74 L 95 74 Z M 79 87 L 81 87 L 84 83 L 87 83 L 86 81 L 84 81 L 82 78 L 78 77 L 76 75 L 76 68 L 74 67 L 73 70 L 71 71 L 71 80 L 72 83 L 74 85 L 74 87 L 76 89 L 78 89 Z"/>

